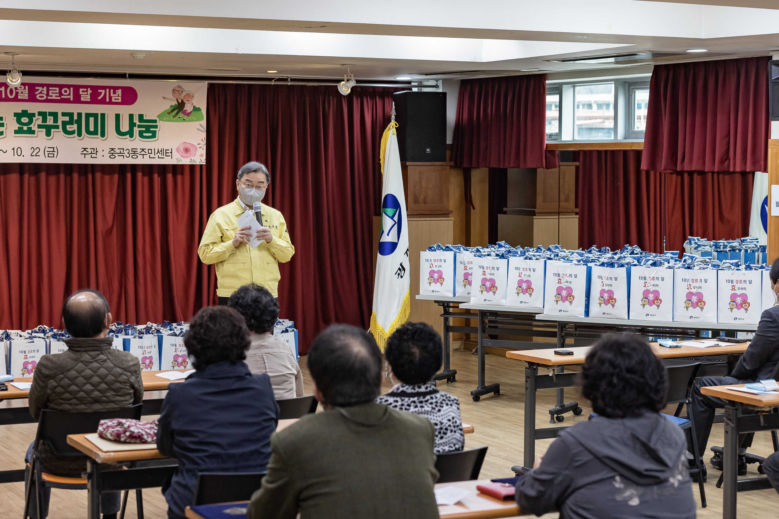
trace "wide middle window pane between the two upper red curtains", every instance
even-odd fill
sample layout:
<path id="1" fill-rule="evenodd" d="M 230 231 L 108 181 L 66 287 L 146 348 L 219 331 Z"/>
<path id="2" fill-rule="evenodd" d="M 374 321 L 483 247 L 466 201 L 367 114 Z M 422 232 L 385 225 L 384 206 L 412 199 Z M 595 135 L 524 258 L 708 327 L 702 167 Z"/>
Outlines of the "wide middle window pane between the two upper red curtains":
<path id="1" fill-rule="evenodd" d="M 614 139 L 614 83 L 577 85 L 573 96 L 576 100 L 573 139 Z"/>

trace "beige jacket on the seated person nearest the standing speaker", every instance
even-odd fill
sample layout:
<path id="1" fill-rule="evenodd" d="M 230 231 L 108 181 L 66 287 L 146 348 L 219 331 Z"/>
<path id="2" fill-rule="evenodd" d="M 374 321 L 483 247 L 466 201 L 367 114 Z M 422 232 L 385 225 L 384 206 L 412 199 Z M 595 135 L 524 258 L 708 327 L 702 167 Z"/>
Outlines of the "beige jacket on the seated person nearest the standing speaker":
<path id="1" fill-rule="evenodd" d="M 255 374 L 268 373 L 277 400 L 303 396 L 303 373 L 289 346 L 270 333 L 253 333 L 246 365 Z"/>

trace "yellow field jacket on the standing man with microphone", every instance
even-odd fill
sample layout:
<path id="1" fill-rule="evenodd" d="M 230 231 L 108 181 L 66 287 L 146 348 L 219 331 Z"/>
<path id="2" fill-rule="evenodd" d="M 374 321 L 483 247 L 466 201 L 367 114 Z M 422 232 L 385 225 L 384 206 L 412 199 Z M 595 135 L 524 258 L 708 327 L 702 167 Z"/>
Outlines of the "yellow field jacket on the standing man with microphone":
<path id="1" fill-rule="evenodd" d="M 255 282 L 278 296 L 279 261 L 286 263 L 294 254 L 294 246 L 281 212 L 263 204 L 263 225 L 270 229 L 273 240 L 263 241 L 255 249 L 249 244 L 233 247 L 238 232 L 238 217 L 244 209 L 238 198 L 214 211 L 208 219 L 197 254 L 206 265 L 217 267 L 217 296 L 229 297 L 246 283 Z"/>

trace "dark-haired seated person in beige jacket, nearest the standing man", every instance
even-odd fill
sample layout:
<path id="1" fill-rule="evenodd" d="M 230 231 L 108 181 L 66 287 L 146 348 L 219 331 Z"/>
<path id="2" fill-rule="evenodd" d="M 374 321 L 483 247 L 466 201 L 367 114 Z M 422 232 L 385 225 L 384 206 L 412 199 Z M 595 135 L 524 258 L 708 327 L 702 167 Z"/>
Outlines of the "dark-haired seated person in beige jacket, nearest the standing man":
<path id="1" fill-rule="evenodd" d="M 246 365 L 252 373 L 268 373 L 277 400 L 303 396 L 303 373 L 290 347 L 273 336 L 279 318 L 279 303 L 263 286 L 249 283 L 236 290 L 227 306 L 244 316 L 252 345 Z"/>

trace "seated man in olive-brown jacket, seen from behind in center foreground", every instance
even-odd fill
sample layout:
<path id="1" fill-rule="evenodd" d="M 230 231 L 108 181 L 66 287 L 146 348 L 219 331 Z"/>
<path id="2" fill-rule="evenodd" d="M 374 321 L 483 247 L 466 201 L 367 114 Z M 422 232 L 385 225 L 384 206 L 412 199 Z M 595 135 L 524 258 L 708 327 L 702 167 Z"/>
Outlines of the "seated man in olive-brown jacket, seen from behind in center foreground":
<path id="1" fill-rule="evenodd" d="M 375 402 L 383 373 L 372 336 L 330 326 L 312 342 L 308 370 L 325 411 L 273 435 L 268 474 L 247 517 L 438 519 L 435 429 Z"/>

